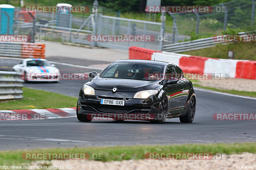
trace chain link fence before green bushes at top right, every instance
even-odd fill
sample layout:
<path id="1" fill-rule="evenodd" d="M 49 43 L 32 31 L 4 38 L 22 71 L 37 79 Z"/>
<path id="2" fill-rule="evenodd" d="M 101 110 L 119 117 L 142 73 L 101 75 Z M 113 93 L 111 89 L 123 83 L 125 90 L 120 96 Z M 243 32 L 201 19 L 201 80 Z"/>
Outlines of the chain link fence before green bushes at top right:
<path id="1" fill-rule="evenodd" d="M 222 34 L 228 28 L 237 32 L 256 29 L 255 0 L 234 0 L 213 5 L 212 8 L 213 11 L 209 13 L 172 13 L 178 32 L 175 34 L 210 37 Z M 179 36 L 174 42 L 181 40 Z"/>

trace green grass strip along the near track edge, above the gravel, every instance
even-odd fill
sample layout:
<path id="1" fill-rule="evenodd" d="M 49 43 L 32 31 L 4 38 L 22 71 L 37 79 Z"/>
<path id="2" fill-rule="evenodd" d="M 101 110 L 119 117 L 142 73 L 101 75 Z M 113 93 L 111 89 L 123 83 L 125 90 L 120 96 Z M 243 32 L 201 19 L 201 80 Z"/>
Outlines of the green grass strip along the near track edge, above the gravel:
<path id="1" fill-rule="evenodd" d="M 256 153 L 256 143 L 234 144 L 184 144 L 184 145 L 146 145 L 84 148 L 52 148 L 17 151 L 1 151 L 0 165 L 29 164 L 31 160 L 21 158 L 22 153 L 104 153 L 101 161 L 145 159 L 146 153 Z"/>

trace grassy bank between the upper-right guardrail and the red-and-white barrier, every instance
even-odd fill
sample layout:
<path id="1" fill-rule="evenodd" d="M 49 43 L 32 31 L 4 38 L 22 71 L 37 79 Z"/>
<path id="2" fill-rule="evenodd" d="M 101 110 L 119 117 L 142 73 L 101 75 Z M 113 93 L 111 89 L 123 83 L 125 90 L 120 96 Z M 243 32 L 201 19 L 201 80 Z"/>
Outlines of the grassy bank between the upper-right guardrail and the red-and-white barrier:
<path id="1" fill-rule="evenodd" d="M 227 59 L 228 50 L 235 52 L 236 60 L 256 60 L 255 42 L 236 42 L 227 45 L 218 44 L 215 47 L 186 51 L 181 54 Z"/>

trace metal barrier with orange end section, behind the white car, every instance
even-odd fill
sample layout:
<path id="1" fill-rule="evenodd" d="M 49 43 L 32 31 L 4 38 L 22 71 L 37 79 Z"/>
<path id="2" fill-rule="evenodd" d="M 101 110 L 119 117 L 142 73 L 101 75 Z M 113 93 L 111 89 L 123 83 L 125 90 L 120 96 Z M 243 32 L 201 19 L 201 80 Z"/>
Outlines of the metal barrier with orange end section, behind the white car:
<path id="1" fill-rule="evenodd" d="M 45 44 L 28 42 L 0 42 L 0 56 L 45 58 Z"/>

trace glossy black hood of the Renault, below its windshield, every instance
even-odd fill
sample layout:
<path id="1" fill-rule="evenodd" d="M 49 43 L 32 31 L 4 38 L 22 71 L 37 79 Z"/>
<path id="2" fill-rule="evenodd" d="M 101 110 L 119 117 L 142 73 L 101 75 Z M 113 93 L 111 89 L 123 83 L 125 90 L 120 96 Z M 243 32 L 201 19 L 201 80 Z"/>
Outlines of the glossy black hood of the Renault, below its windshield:
<path id="1" fill-rule="evenodd" d="M 86 84 L 98 90 L 112 90 L 114 87 L 116 87 L 117 91 L 119 92 L 138 92 L 142 90 L 155 89 L 159 86 L 159 81 L 100 78 L 97 76 Z"/>

